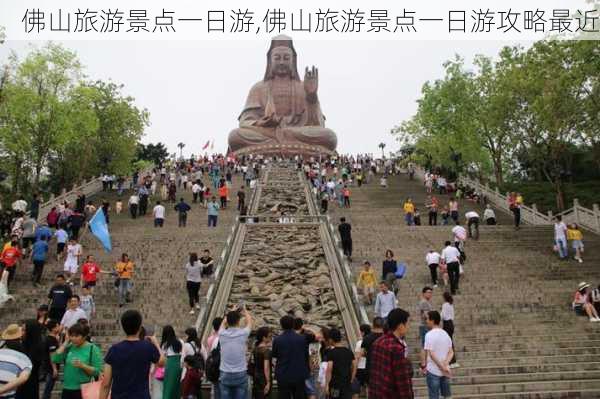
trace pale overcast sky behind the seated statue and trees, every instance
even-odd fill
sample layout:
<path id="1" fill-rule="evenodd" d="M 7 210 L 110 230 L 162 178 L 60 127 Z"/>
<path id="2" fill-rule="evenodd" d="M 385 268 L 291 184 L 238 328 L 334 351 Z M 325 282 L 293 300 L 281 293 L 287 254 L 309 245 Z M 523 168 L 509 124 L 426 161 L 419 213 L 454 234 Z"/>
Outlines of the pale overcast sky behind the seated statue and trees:
<path id="1" fill-rule="evenodd" d="M 42 42 L 33 42 L 42 45 Z M 298 70 L 319 68 L 319 98 L 327 126 L 337 133 L 338 151 L 378 152 L 386 143 L 398 149 L 390 129 L 416 111 L 423 83 L 443 76 L 442 64 L 460 54 L 495 56 L 497 41 L 298 41 Z M 7 41 L 20 56 L 30 44 Z M 171 152 L 200 153 L 207 140 L 215 151 L 227 148 L 250 87 L 262 79 L 269 42 L 260 41 L 68 41 L 93 79 L 125 85 L 150 111 L 143 142 L 166 143 Z M 301 72 L 303 75 L 303 72 Z"/>

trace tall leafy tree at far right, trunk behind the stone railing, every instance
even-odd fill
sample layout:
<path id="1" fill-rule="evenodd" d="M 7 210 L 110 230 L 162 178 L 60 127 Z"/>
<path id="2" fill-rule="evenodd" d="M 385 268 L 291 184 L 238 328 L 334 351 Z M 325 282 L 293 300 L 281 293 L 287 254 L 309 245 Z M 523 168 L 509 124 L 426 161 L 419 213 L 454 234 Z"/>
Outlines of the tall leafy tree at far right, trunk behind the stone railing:
<path id="1" fill-rule="evenodd" d="M 580 127 L 585 96 L 570 46 L 560 41 L 535 43 L 524 55 L 513 87 L 519 101 L 513 126 L 515 143 L 552 183 L 559 210 L 565 208 L 569 149 L 583 139 Z"/>

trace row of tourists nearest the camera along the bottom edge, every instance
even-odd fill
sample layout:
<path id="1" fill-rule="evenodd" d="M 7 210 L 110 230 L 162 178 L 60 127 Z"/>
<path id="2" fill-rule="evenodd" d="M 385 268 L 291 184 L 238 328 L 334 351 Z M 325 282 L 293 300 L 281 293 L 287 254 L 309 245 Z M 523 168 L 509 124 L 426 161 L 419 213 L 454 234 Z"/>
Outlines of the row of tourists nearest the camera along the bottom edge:
<path id="1" fill-rule="evenodd" d="M 442 325 L 439 312 L 420 308 L 429 329 L 421 370 L 427 372 L 428 384 L 449 397 L 454 352 L 447 323 Z M 63 398 L 92 397 L 85 395 L 95 392 L 101 399 L 195 399 L 203 397 L 203 382 L 212 385 L 213 397 L 224 399 L 266 398 L 275 383 L 280 398 L 350 399 L 364 392 L 371 398 L 413 398 L 413 367 L 404 340 L 409 316 L 396 308 L 385 318 L 375 317 L 372 325 L 361 326 L 362 339 L 352 351 L 337 328 L 313 331 L 286 315 L 281 330 L 272 331 L 255 326 L 243 307 L 213 320 L 213 333 L 204 342 L 194 328 L 177 337 L 170 325 L 162 328 L 159 340 L 142 315 L 129 309 L 120 317 L 125 339 L 105 355 L 85 319 L 66 327 L 40 317 L 2 332 L 0 395 L 39 397 L 40 377 L 46 376 L 43 397 L 49 397 L 62 370 Z M 253 344 L 248 342 L 251 335 Z"/>

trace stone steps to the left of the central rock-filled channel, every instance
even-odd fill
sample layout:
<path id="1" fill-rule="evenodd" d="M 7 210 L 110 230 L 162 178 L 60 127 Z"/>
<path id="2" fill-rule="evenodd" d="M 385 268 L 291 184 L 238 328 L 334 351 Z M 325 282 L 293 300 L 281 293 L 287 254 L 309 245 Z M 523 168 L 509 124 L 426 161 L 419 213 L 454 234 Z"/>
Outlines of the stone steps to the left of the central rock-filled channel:
<path id="1" fill-rule="evenodd" d="M 208 180 L 204 179 L 205 182 Z M 192 204 L 191 190 L 183 191 L 181 188 L 178 189 L 177 198 L 183 196 L 192 207 L 185 228 L 178 227 L 177 212 L 173 210 L 175 204 L 168 202 L 164 203 L 167 208 L 164 227 L 155 228 L 152 208 L 157 198 L 150 198 L 148 214 L 135 220 L 130 218 L 127 209 L 120 215 L 111 211 L 111 253 L 105 252 L 91 233 L 85 233 L 81 241 L 83 258 L 91 254 L 103 270 L 112 270 L 121 253 L 125 252 L 136 264 L 132 303 L 119 308 L 114 278 L 109 275 L 100 276 L 95 288 L 96 317 L 92 320 L 92 333 L 103 353 L 123 337 L 119 318 L 128 308 L 140 310 L 144 315 L 144 325 L 154 327 L 159 339 L 164 325 L 173 325 L 180 336 L 183 336 L 186 328 L 194 326 L 198 313 L 188 313 L 190 309 L 185 288 L 184 265 L 190 252 L 197 252 L 201 256 L 204 249 L 209 249 L 211 256 L 217 261 L 237 215 L 236 193 L 240 183 L 241 175 L 234 176 L 233 187 L 230 189 L 231 201 L 227 209 L 220 211 L 216 228 L 207 227 L 206 209 L 199 204 Z M 91 200 L 97 204 L 102 198 L 106 198 L 114 205 L 117 200 L 116 194 L 105 194 L 100 193 Z M 124 208 L 129 195 L 130 192 L 126 191 L 122 196 Z M 45 267 L 40 288 L 34 288 L 30 281 L 32 265 L 29 261 L 23 261 L 18 268 L 15 281 L 10 287 L 10 293 L 15 296 L 16 301 L 0 309 L 1 328 L 27 318 L 35 318 L 37 306 L 47 303 L 48 291 L 54 277 L 63 270 L 62 262 L 58 264 L 55 260 L 55 249 L 56 245 L 52 241 L 52 260 Z M 207 285 L 203 283 L 203 292 Z M 76 286 L 74 291 L 79 293 L 79 287 Z M 59 388 L 57 387 L 55 392 L 59 392 Z"/>

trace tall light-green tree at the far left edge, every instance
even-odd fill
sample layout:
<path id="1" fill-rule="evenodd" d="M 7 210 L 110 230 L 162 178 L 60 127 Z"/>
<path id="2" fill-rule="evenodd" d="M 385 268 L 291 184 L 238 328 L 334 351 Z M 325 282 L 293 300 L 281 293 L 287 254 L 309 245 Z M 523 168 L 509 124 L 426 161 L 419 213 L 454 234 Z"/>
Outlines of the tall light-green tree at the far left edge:
<path id="1" fill-rule="evenodd" d="M 11 64 L 14 77 L 3 101 L 9 103 L 3 117 L 10 123 L 0 140 L 12 148 L 15 188 L 23 180 L 18 169 L 29 166 L 37 190 L 52 149 L 69 134 L 66 102 L 81 78 L 81 64 L 75 53 L 52 43 L 34 49 L 22 62 L 13 56 Z"/>

